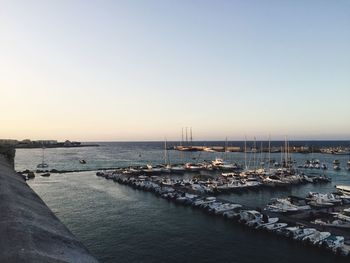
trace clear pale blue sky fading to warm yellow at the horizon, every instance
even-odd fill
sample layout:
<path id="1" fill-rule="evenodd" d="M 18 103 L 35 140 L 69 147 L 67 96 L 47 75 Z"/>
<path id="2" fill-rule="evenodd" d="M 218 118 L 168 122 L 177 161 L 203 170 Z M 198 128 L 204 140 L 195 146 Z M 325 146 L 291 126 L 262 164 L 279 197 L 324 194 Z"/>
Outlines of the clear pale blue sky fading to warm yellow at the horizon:
<path id="1" fill-rule="evenodd" d="M 350 139 L 350 1 L 0 0 L 0 138 Z"/>

